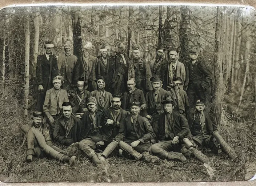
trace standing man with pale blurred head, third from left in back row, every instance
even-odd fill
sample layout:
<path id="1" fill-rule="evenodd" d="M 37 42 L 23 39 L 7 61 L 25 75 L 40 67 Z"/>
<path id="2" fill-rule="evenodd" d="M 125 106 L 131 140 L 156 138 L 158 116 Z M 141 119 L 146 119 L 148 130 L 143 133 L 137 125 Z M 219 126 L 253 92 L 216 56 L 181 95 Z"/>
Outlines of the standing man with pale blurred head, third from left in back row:
<path id="1" fill-rule="evenodd" d="M 97 89 L 96 84 L 96 65 L 97 57 L 91 55 L 92 53 L 92 43 L 87 42 L 84 45 L 83 56 L 79 57 L 75 68 L 73 82 L 76 84 L 77 80 L 83 76 L 85 89 L 89 92 Z"/>

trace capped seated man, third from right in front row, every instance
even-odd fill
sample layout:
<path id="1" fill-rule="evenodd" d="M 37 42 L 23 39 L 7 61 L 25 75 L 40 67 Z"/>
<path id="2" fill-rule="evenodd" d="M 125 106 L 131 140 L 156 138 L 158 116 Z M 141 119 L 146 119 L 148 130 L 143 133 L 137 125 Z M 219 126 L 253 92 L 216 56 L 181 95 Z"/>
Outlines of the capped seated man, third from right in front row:
<path id="1" fill-rule="evenodd" d="M 139 114 L 140 103 L 133 102 L 130 110 L 131 115 L 125 119 L 125 138 L 120 141 L 119 145 L 123 149 L 122 143 L 128 143 L 134 150 L 144 154 L 148 152 L 151 140 L 155 139 L 156 136 L 147 118 Z"/>

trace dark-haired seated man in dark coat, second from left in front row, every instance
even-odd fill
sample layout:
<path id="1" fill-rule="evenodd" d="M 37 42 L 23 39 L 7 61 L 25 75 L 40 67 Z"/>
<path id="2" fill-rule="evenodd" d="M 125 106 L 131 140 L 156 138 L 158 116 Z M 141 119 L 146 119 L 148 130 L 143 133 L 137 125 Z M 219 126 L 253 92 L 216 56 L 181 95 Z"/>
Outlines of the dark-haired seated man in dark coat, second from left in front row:
<path id="1" fill-rule="evenodd" d="M 55 122 L 53 138 L 55 142 L 69 146 L 78 142 L 76 134 L 80 120 L 73 115 L 70 102 L 64 102 L 62 107 L 61 116 Z"/>

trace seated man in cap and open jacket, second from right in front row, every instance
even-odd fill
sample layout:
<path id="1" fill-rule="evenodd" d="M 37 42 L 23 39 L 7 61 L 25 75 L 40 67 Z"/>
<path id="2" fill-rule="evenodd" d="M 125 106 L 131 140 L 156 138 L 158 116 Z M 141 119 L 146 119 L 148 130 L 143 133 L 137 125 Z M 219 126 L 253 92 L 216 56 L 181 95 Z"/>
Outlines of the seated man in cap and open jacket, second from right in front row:
<path id="1" fill-rule="evenodd" d="M 167 98 L 163 101 L 164 113 L 159 116 L 159 130 L 156 133 L 157 143 L 150 147 L 150 152 L 161 159 L 185 161 L 180 151 L 183 138 L 191 135 L 187 119 L 174 111 L 173 101 Z"/>

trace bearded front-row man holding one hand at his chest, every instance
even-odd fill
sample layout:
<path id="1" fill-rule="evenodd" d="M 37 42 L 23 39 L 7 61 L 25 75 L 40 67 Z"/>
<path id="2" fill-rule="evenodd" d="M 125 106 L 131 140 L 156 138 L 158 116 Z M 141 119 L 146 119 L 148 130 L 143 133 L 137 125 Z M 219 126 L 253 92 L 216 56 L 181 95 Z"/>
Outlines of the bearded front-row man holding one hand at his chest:
<path id="1" fill-rule="evenodd" d="M 112 107 L 104 110 L 104 122 L 99 129 L 103 136 L 100 148 L 104 149 L 99 157 L 101 161 L 104 161 L 116 149 L 118 143 L 123 140 L 125 135 L 124 122 L 129 115 L 129 112 L 121 108 L 120 94 L 114 95 L 111 101 Z"/>

